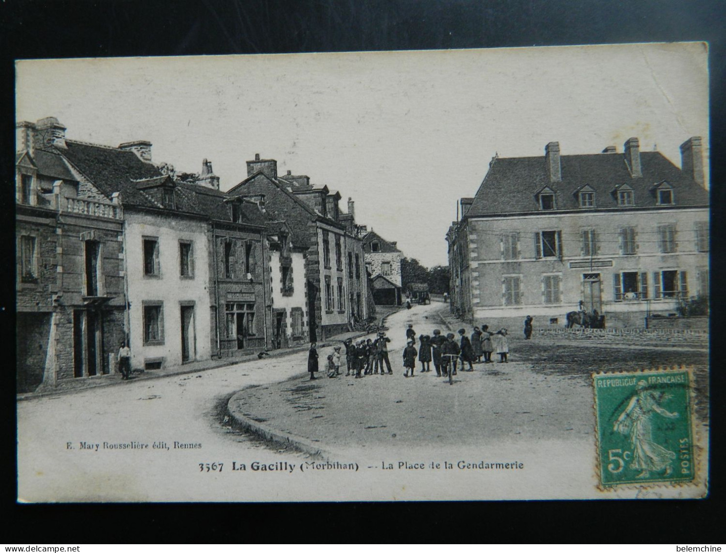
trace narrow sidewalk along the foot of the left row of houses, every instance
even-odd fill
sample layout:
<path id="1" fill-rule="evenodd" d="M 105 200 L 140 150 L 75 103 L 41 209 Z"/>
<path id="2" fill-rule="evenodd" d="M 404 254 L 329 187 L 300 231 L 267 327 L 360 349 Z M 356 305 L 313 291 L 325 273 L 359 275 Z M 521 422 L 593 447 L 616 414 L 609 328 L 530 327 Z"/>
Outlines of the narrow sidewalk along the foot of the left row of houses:
<path id="1" fill-rule="evenodd" d="M 318 343 L 318 347 L 330 347 L 336 343 L 341 343 L 343 340 L 353 338 L 354 340 L 358 337 L 367 335 L 365 331 L 355 332 L 343 332 L 338 335 L 329 337 L 324 342 Z M 268 359 L 270 357 L 282 357 L 293 355 L 300 351 L 306 351 L 309 349 L 309 345 L 298 345 L 293 348 L 282 348 L 279 350 L 268 351 Z M 250 361 L 258 361 L 258 352 L 250 353 L 242 357 L 226 357 L 224 359 L 205 359 L 204 361 L 193 361 L 192 363 L 185 363 L 183 365 L 167 366 L 163 369 L 155 369 L 150 371 L 139 371 L 134 370 L 131 374 L 130 380 L 150 380 L 154 378 L 164 378 L 176 376 L 177 374 L 187 374 L 189 372 L 200 372 L 209 369 L 219 369 L 224 366 L 232 366 L 240 363 L 248 363 Z M 19 393 L 16 398 L 17 401 L 24 401 L 28 399 L 41 398 L 45 396 L 57 396 L 59 394 L 74 393 L 81 390 L 88 390 L 89 388 L 98 388 L 99 386 L 111 386 L 124 383 L 121 380 L 121 373 L 113 372 L 111 374 L 101 374 L 97 377 L 87 378 L 74 378 L 60 382 L 57 386 L 46 386 L 41 385 L 35 392 Z"/>

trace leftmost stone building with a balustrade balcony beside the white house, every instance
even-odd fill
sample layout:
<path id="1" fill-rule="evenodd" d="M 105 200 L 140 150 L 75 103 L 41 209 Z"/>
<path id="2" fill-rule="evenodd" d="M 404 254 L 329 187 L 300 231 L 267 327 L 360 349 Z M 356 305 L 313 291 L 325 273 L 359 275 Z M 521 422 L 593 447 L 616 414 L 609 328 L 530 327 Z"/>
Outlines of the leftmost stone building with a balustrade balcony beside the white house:
<path id="1" fill-rule="evenodd" d="M 17 391 L 32 392 L 115 372 L 123 221 L 68 163 L 57 119 L 16 131 Z"/>

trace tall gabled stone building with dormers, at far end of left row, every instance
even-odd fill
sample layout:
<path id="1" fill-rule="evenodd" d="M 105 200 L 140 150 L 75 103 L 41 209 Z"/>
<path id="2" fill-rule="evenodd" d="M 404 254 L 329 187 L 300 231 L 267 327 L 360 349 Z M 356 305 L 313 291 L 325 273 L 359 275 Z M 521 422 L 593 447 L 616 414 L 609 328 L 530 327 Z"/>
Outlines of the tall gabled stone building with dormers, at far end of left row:
<path id="1" fill-rule="evenodd" d="M 277 161 L 247 162 L 248 176 L 228 197 L 264 196 L 267 213 L 285 221 L 296 247 L 306 250 L 305 282 L 309 340 L 345 332 L 356 319 L 366 319 L 367 279 L 362 242 L 340 221 L 340 194 L 314 187 L 308 176 L 288 171 L 278 176 Z M 294 270 L 294 269 L 293 269 Z M 296 284 L 295 284 L 296 285 Z"/>

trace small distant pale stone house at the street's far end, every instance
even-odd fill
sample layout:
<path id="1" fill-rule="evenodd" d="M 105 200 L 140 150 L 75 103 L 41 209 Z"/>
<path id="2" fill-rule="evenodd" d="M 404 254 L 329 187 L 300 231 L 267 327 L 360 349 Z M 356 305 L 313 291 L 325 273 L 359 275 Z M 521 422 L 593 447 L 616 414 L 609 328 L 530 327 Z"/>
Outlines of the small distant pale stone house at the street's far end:
<path id="1" fill-rule="evenodd" d="M 367 232 L 363 236 L 363 251 L 365 254 L 366 268 L 371 274 L 374 300 L 378 305 L 401 305 L 401 259 L 403 253 L 396 247 L 396 242 L 389 242 L 380 234 Z M 378 277 L 383 277 L 379 279 Z M 390 284 L 396 287 L 396 292 L 391 290 Z M 377 291 L 377 290 L 380 290 Z M 396 303 L 391 303 L 395 298 Z"/>

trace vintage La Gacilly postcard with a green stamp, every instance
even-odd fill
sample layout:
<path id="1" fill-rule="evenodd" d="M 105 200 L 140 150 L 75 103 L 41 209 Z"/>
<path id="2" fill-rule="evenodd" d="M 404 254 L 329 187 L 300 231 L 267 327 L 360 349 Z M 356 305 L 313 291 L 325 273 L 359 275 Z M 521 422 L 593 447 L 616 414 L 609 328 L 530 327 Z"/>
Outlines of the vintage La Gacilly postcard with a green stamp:
<path id="1" fill-rule="evenodd" d="M 18 60 L 18 501 L 706 496 L 708 56 Z"/>

